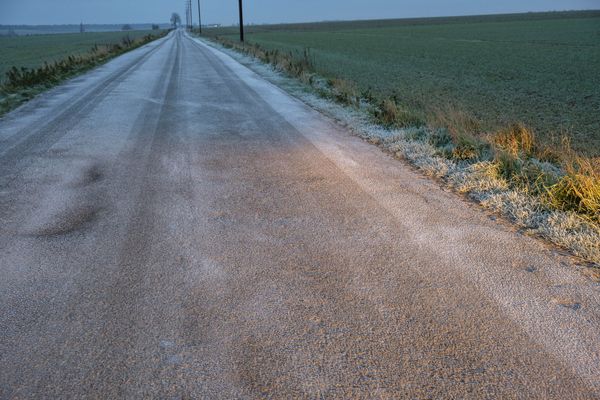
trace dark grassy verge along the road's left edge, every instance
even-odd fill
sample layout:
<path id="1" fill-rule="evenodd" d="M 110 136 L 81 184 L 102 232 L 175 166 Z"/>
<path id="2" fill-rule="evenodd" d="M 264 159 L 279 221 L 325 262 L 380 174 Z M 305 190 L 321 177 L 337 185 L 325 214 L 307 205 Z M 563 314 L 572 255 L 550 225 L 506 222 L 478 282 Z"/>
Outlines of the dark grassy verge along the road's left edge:
<path id="1" fill-rule="evenodd" d="M 126 35 L 117 43 L 94 45 L 87 53 L 46 62 L 38 68 L 13 66 L 0 81 L 0 116 L 68 78 L 164 37 L 167 33 L 162 31 L 133 39 Z"/>

